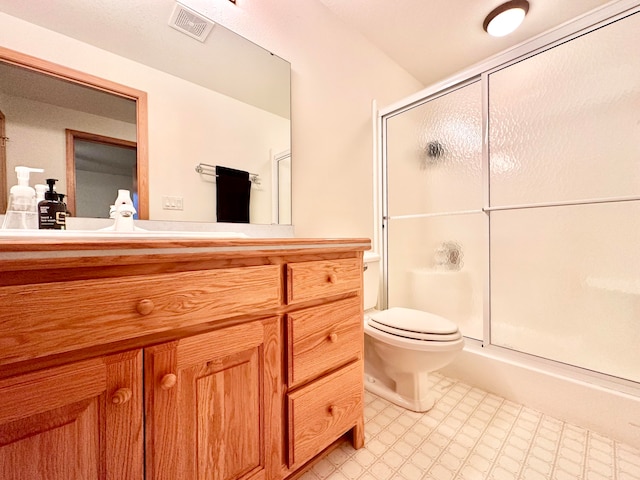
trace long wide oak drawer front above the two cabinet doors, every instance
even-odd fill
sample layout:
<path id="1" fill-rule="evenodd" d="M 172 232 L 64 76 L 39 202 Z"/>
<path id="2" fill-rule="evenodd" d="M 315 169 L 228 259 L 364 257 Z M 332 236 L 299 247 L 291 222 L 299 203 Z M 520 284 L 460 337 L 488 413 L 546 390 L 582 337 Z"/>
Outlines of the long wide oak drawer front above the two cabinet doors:
<path id="1" fill-rule="evenodd" d="M 0 288 L 0 364 L 276 308 L 277 265 Z"/>

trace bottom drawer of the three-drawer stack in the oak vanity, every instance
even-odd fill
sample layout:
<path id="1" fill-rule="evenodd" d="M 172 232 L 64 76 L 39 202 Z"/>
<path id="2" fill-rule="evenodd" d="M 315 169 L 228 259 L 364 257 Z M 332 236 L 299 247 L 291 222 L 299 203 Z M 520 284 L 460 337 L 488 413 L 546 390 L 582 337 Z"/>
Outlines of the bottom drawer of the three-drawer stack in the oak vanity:
<path id="1" fill-rule="evenodd" d="M 353 428 L 364 415 L 358 361 L 288 397 L 289 467 L 297 467 Z"/>

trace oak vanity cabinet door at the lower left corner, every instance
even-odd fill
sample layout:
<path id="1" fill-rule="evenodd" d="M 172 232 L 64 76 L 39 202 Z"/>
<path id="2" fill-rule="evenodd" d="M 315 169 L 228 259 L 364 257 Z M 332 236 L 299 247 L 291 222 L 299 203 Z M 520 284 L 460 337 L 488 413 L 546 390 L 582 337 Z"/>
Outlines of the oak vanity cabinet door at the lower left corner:
<path id="1" fill-rule="evenodd" d="M 0 478 L 142 480 L 142 351 L 0 380 Z"/>

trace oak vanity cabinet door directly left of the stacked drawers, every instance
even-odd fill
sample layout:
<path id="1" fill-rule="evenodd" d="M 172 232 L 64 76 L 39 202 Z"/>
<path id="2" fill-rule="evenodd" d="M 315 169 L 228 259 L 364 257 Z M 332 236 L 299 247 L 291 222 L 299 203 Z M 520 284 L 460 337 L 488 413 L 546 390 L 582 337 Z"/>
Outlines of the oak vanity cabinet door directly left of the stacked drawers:
<path id="1" fill-rule="evenodd" d="M 148 479 L 279 476 L 279 325 L 255 321 L 145 350 Z"/>

